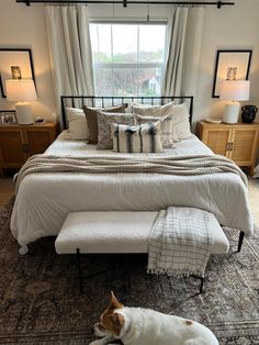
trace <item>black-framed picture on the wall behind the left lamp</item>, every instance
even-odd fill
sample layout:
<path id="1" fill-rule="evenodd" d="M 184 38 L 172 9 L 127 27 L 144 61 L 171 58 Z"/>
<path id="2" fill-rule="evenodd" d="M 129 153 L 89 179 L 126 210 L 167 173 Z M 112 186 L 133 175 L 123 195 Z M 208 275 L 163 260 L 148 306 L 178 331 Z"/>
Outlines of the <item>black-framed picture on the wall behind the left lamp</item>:
<path id="1" fill-rule="evenodd" d="M 22 78 L 33 79 L 35 84 L 32 51 L 29 48 L 0 48 L 0 91 L 2 98 L 7 98 L 5 80 Z"/>

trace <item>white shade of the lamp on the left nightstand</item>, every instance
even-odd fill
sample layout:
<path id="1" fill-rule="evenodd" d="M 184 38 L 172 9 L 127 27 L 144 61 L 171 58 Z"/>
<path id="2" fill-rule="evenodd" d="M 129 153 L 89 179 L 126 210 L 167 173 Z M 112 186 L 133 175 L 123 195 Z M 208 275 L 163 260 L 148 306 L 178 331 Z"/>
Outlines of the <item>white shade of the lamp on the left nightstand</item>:
<path id="1" fill-rule="evenodd" d="M 37 99 L 35 85 L 32 79 L 5 80 L 7 99 L 9 101 L 35 101 Z"/>

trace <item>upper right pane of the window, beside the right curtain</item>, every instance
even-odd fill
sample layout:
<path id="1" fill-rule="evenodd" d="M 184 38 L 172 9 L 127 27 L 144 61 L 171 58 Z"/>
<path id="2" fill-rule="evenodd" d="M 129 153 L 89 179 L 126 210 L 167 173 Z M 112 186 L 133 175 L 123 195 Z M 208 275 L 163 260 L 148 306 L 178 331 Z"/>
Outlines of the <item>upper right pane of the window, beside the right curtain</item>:
<path id="1" fill-rule="evenodd" d="M 139 25 L 139 62 L 164 62 L 166 25 Z"/>

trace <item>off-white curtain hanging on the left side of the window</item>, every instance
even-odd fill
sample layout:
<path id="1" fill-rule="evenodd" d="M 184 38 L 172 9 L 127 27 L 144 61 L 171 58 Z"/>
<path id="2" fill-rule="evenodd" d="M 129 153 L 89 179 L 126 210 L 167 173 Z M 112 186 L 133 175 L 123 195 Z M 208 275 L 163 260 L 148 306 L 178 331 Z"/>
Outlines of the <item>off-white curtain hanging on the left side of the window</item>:
<path id="1" fill-rule="evenodd" d="M 56 105 L 60 96 L 93 96 L 92 52 L 86 5 L 45 9 Z"/>

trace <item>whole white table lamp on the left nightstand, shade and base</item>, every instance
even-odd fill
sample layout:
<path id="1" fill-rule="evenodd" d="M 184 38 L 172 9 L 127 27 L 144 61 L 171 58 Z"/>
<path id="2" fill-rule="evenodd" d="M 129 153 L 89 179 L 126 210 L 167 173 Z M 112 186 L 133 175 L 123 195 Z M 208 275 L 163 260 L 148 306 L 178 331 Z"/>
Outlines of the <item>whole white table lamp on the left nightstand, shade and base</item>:
<path id="1" fill-rule="evenodd" d="M 32 105 L 27 101 L 37 99 L 35 85 L 32 79 L 5 80 L 7 99 L 15 103 L 19 124 L 32 124 L 34 122 Z"/>

